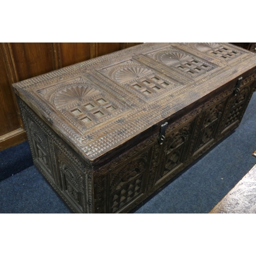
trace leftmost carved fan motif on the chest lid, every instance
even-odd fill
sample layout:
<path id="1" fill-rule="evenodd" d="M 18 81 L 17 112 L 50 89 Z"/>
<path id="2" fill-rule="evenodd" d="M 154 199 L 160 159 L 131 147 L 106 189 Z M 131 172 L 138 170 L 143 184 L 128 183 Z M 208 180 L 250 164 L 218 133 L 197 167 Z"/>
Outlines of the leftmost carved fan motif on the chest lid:
<path id="1" fill-rule="evenodd" d="M 53 103 L 59 109 L 70 103 L 79 102 L 98 92 L 98 90 L 85 85 L 68 86 L 54 93 Z"/>

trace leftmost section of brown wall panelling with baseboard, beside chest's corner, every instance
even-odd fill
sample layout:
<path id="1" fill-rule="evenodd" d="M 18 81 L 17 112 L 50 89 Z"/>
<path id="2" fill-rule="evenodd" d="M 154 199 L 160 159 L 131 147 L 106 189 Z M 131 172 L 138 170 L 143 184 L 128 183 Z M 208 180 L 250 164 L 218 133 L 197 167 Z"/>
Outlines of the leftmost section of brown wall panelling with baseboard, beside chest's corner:
<path id="1" fill-rule="evenodd" d="M 0 150 L 27 139 L 11 84 L 59 68 L 52 43 L 2 43 Z M 8 77 L 6 80 L 5 77 Z"/>

